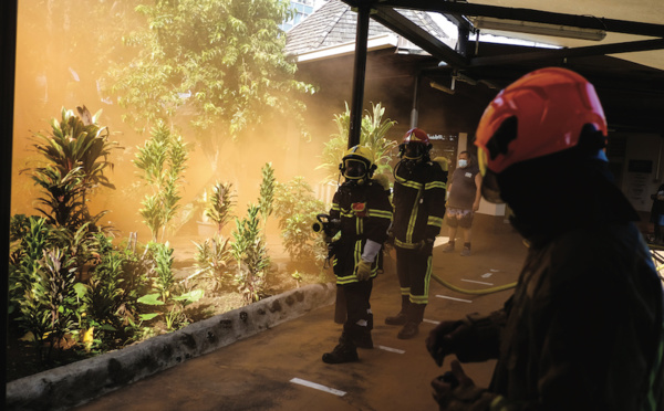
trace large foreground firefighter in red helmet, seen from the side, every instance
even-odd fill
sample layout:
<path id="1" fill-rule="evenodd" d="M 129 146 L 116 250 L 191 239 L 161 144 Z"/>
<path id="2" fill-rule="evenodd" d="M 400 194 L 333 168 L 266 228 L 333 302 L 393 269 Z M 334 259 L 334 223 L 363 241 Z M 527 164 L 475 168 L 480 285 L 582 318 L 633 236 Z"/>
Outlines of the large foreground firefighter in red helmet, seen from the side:
<path id="1" fill-rule="evenodd" d="M 604 155 L 606 122 L 581 75 L 542 68 L 489 104 L 477 129 L 483 196 L 529 242 L 513 295 L 442 322 L 426 346 L 452 376 L 440 410 L 664 410 L 663 292 L 637 214 Z M 498 359 L 488 389 L 459 361 Z"/>

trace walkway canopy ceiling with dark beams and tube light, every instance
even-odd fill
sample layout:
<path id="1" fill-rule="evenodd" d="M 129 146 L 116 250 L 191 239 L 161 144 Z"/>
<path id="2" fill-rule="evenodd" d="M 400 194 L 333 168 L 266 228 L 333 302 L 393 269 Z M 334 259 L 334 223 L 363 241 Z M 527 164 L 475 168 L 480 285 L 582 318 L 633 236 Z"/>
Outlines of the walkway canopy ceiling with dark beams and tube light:
<path id="1" fill-rule="evenodd" d="M 609 99 L 624 106 L 625 118 L 637 122 L 625 129 L 664 131 L 664 1 L 662 0 L 342 0 L 351 7 L 372 9 L 371 18 L 408 39 L 438 59 L 428 74 L 461 74 L 504 87 L 522 74 L 547 65 L 567 65 L 582 72 Z M 463 33 L 467 44 L 455 49 L 412 23 L 401 9 L 434 11 L 445 15 Z M 602 40 L 523 34 L 478 29 L 477 18 L 506 19 L 519 24 L 552 24 L 605 32 Z M 473 39 L 480 34 L 523 39 L 554 48 L 508 46 Z M 574 29 L 571 29 L 574 30 Z M 465 38 L 460 35 L 459 38 Z M 629 102 L 629 104 L 627 104 Z M 632 103 L 633 102 L 633 103 Z M 655 118 L 656 117 L 656 118 Z M 624 123 L 624 122 L 623 122 Z"/>

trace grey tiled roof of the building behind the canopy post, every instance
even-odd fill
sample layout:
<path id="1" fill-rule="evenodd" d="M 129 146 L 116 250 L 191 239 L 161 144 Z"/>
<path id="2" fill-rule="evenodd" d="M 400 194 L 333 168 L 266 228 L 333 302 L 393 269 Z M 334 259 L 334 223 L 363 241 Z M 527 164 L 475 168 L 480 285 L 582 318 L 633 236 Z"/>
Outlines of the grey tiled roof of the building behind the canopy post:
<path id="1" fill-rule="evenodd" d="M 400 10 L 402 14 L 422 29 L 447 39 L 440 27 L 424 11 Z M 357 14 L 340 0 L 330 0 L 287 33 L 286 52 L 302 54 L 321 48 L 355 41 Z M 384 25 L 370 20 L 369 36 L 391 33 Z"/>

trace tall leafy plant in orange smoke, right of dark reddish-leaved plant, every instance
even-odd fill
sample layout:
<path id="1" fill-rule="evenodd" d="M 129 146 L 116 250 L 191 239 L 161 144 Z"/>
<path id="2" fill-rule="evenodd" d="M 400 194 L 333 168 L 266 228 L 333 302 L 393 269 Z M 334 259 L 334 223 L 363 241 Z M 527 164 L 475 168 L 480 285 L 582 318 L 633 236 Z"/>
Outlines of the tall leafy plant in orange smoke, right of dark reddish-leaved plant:
<path id="1" fill-rule="evenodd" d="M 151 189 L 139 210 L 145 224 L 152 232 L 153 242 L 162 231 L 164 241 L 167 224 L 179 209 L 179 187 L 188 159 L 188 147 L 180 136 L 159 122 L 151 138 L 138 147 L 134 165 L 142 170 L 141 177 Z"/>

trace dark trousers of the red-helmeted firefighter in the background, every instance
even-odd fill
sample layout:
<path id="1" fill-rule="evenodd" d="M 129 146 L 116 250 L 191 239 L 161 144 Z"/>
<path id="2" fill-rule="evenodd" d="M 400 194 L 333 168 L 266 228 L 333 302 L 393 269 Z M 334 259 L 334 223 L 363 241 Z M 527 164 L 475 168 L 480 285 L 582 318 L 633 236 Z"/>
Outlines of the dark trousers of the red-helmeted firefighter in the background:
<path id="1" fill-rule="evenodd" d="M 419 324 L 424 317 L 424 308 L 428 304 L 432 251 L 400 246 L 395 249 L 396 275 L 401 287 L 402 303 L 408 304 L 408 307 L 404 307 L 402 304 L 402 312 L 406 314 L 408 322 Z"/>

